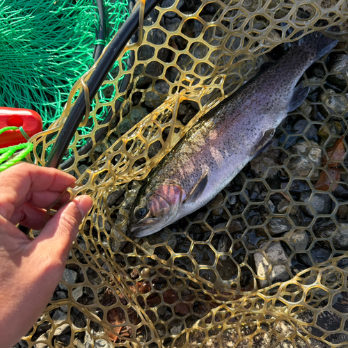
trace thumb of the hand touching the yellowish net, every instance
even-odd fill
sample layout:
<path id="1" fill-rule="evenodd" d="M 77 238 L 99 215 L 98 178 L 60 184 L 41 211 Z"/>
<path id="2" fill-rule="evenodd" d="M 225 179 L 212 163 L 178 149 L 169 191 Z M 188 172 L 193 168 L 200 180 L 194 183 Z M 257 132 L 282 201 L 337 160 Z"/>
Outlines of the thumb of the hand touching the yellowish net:
<path id="1" fill-rule="evenodd" d="M 35 248 L 42 252 L 41 255 L 60 259 L 65 264 L 70 246 L 79 231 L 79 224 L 92 205 L 93 200 L 89 196 L 78 196 L 61 207 L 33 241 Z"/>

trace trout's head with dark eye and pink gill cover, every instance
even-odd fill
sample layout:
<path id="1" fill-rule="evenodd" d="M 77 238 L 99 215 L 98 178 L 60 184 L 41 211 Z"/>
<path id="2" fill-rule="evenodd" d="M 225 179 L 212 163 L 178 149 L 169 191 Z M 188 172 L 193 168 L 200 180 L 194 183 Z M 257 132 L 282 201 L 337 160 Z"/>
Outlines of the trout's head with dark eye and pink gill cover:
<path id="1" fill-rule="evenodd" d="M 128 218 L 128 231 L 135 237 L 152 235 L 177 220 L 184 190 L 177 184 L 161 184 L 154 191 L 140 190 Z"/>

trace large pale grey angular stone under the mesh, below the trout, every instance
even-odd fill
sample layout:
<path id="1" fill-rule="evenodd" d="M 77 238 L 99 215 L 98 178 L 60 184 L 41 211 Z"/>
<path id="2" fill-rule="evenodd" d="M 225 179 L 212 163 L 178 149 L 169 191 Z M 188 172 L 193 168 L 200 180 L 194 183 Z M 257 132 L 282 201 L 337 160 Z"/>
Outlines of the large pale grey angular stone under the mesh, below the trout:
<path id="1" fill-rule="evenodd" d="M 287 261 L 287 255 L 283 246 L 280 242 L 273 242 L 269 244 L 265 251 L 269 261 L 273 264 L 271 273 L 269 274 L 269 280 L 271 283 L 276 283 L 278 281 L 286 281 L 290 279 L 290 276 L 287 272 L 287 267 L 285 264 L 277 264 L 276 262 L 285 262 Z M 267 271 L 269 269 L 269 261 L 264 257 L 263 253 L 254 254 L 256 274 L 262 278 L 267 278 Z M 269 285 L 268 280 L 259 280 L 261 287 L 267 287 Z"/>

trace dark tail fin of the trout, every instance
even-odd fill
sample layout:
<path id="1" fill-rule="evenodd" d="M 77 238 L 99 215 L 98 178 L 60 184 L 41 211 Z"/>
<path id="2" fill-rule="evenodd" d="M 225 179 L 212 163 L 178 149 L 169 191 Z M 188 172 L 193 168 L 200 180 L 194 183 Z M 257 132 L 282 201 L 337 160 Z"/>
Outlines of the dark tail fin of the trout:
<path id="1" fill-rule="evenodd" d="M 337 33 L 339 29 L 337 27 L 332 27 L 329 29 L 332 33 Z M 329 36 L 324 35 L 321 31 L 315 31 L 306 35 L 304 38 L 301 38 L 298 42 L 298 45 L 301 47 L 313 47 L 316 52 L 316 58 L 319 59 L 328 53 L 337 45 L 338 39 L 329 38 Z"/>

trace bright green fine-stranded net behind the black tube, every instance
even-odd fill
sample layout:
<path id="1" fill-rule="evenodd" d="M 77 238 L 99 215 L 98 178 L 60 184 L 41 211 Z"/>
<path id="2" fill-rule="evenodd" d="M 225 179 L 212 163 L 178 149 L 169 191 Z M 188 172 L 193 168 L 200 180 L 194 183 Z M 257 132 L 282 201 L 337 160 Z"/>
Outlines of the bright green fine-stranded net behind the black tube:
<path id="1" fill-rule="evenodd" d="M 95 45 L 108 43 L 129 15 L 127 0 L 103 3 L 105 42 L 95 38 L 100 17 L 93 0 L 0 0 L 0 106 L 37 111 L 44 129 L 61 116 L 73 84 L 93 65 Z M 91 120 L 79 134 L 93 127 Z"/>

